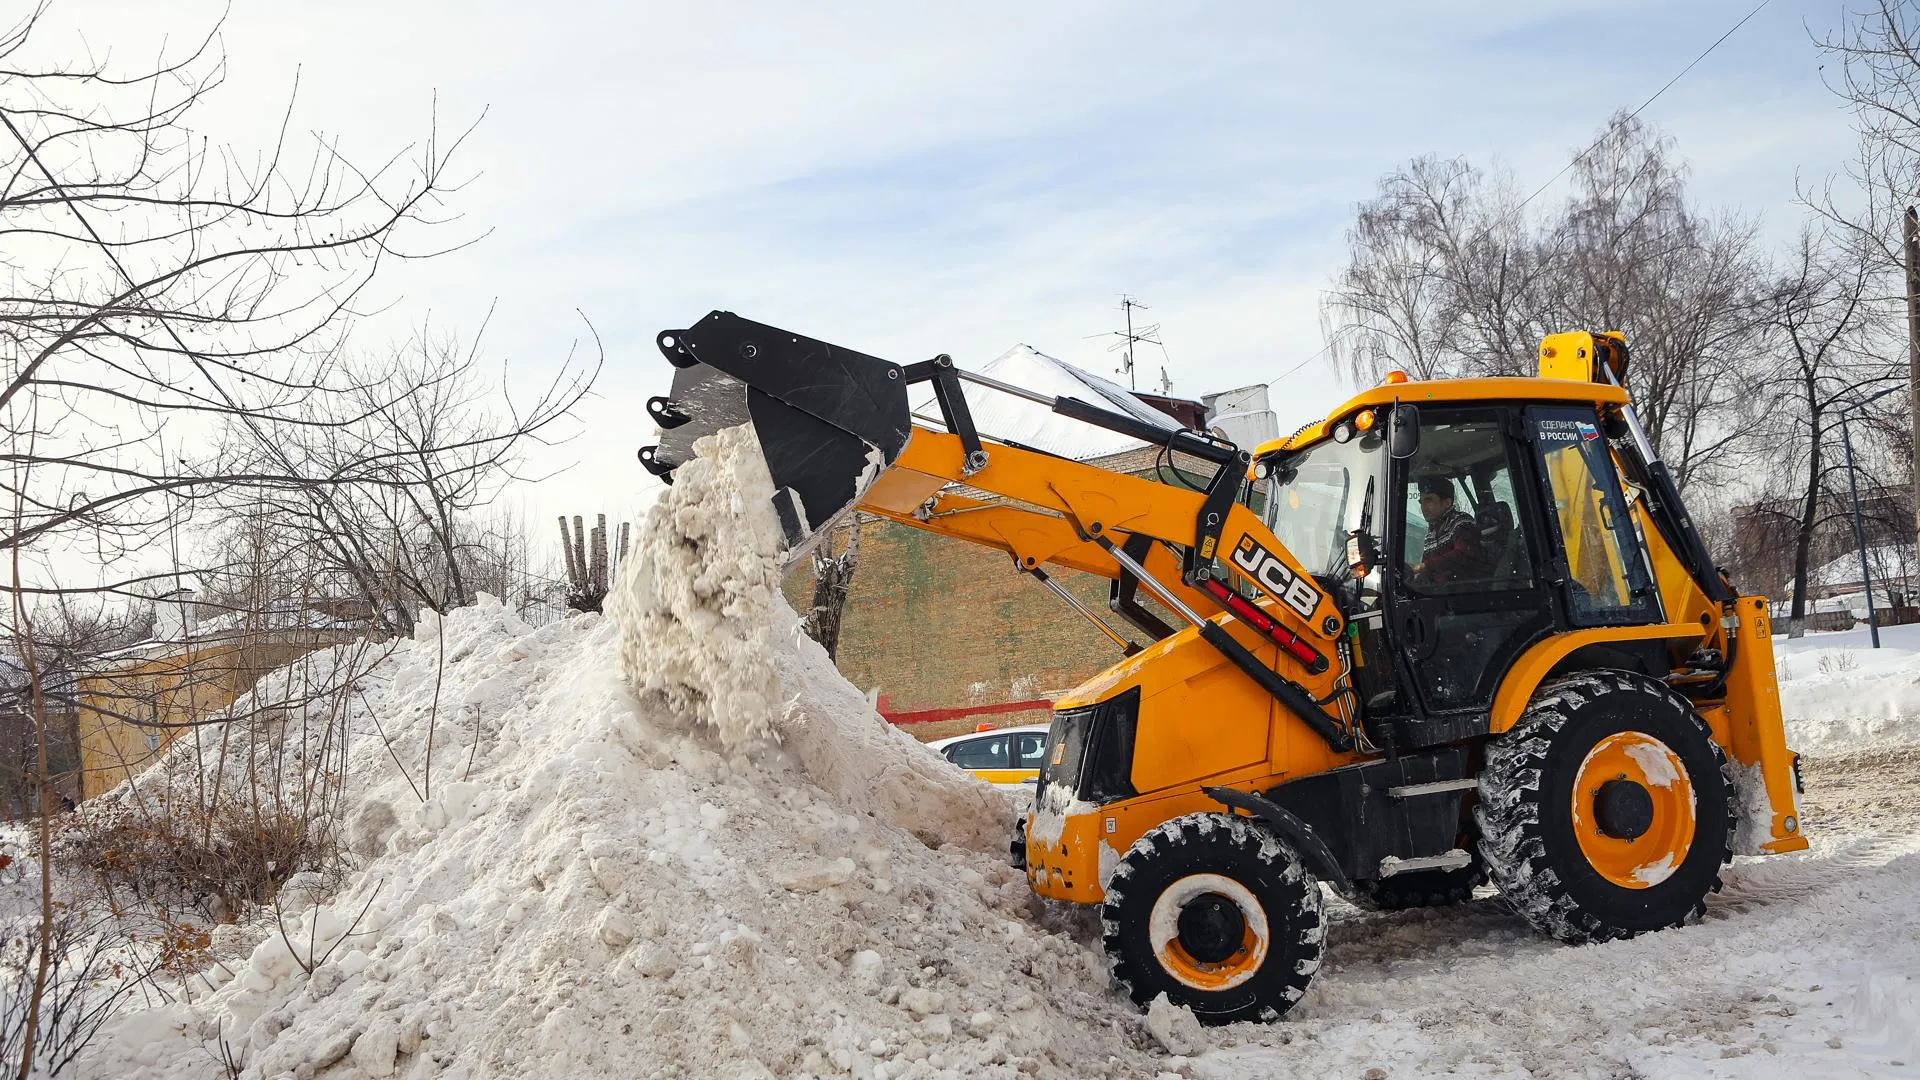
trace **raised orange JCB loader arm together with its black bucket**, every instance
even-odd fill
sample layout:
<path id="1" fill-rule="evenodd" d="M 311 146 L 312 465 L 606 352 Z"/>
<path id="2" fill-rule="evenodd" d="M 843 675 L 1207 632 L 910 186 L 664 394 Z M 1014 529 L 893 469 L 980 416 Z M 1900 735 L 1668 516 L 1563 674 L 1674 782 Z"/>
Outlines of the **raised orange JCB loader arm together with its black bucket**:
<path id="1" fill-rule="evenodd" d="M 902 367 L 728 311 L 668 331 L 659 344 L 678 371 L 672 394 L 647 404 L 664 432 L 660 446 L 639 454 L 655 475 L 670 480 L 695 438 L 751 421 L 793 553 L 860 507 L 998 548 L 1027 573 L 1056 565 L 1112 578 L 1116 609 L 1152 626 L 1133 600 L 1135 588 L 1146 588 L 1331 748 L 1354 746 L 1348 724 L 1321 705 L 1344 621 L 1240 502 L 1250 461 L 1244 450 L 962 373 L 947 356 Z M 989 442 L 973 427 L 966 380 L 1164 444 L 1206 461 L 1213 475 L 1204 490 L 1187 490 Z M 931 384 L 947 430 L 912 423 L 908 386 L 920 382 Z M 1252 594 L 1238 580 L 1250 582 Z M 1263 663 L 1256 650 L 1265 646 L 1286 659 Z"/>

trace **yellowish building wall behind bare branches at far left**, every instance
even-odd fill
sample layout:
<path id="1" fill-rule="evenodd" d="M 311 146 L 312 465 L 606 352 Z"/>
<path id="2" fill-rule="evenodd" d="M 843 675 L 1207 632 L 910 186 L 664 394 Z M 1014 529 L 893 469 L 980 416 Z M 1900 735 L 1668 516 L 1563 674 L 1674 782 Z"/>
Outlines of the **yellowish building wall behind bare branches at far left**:
<path id="1" fill-rule="evenodd" d="M 240 638 L 129 659 L 79 680 L 81 799 L 144 771 L 175 738 L 238 701 L 269 671 L 346 640 L 338 632 Z M 152 744 L 150 744 L 152 736 Z"/>

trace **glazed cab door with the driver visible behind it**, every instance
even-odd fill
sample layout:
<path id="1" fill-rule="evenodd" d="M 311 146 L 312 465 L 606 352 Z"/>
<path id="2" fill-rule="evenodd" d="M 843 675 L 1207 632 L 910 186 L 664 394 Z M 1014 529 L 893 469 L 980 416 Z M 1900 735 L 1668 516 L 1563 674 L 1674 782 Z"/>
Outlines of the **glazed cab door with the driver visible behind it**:
<path id="1" fill-rule="evenodd" d="M 1557 625 L 1526 454 L 1517 409 L 1423 405 L 1419 446 L 1394 463 L 1386 601 L 1407 746 L 1484 732 L 1501 676 Z"/>

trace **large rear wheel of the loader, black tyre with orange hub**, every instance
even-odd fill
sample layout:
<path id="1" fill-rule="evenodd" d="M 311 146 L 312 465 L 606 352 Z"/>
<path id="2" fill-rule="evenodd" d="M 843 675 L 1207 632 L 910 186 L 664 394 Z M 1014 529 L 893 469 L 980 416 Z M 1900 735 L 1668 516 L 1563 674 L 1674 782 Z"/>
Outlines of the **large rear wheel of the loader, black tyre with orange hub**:
<path id="1" fill-rule="evenodd" d="M 1624 671 L 1540 688 L 1488 744 L 1476 815 L 1501 896 L 1571 944 L 1680 926 L 1734 857 L 1726 757 L 1686 698 Z"/>

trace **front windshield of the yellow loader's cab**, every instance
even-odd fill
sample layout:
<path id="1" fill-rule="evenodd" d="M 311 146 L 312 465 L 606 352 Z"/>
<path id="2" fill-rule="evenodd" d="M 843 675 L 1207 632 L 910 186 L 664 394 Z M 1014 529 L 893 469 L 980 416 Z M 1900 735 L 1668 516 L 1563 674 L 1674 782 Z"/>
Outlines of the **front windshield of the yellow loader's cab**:
<path id="1" fill-rule="evenodd" d="M 1377 434 L 1350 442 L 1321 440 L 1273 459 L 1267 528 L 1313 575 L 1346 580 L 1346 538 L 1354 530 L 1380 534 L 1380 463 L 1386 440 Z"/>

